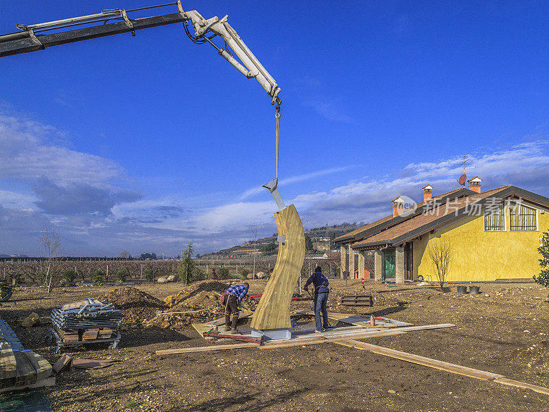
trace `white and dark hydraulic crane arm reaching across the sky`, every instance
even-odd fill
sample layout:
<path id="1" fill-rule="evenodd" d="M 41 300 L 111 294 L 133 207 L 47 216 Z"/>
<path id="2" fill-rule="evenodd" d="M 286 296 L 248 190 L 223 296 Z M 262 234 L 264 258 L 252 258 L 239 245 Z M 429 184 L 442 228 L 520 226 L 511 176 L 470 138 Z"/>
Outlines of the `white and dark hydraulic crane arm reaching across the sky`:
<path id="1" fill-rule="evenodd" d="M 177 5 L 178 12 L 174 14 L 163 14 L 161 16 L 144 17 L 140 19 L 128 18 L 128 12 L 146 10 L 151 8 L 165 7 L 167 5 Z M 0 36 L 0 57 L 13 56 L 14 54 L 35 52 L 43 50 L 46 47 L 64 45 L 77 41 L 89 40 L 113 34 L 131 33 L 135 36 L 136 30 L 148 29 L 161 25 L 183 23 L 187 36 L 194 43 L 210 43 L 218 53 L 231 63 L 238 71 L 247 78 L 255 78 L 261 87 L 272 98 L 271 104 L 277 104 L 279 111 L 281 100 L 278 95 L 280 88 L 277 82 L 270 76 L 268 71 L 261 65 L 259 60 L 248 49 L 242 38 L 238 36 L 233 27 L 227 22 L 228 16 L 223 19 L 212 17 L 204 19 L 196 10 L 185 12 L 180 0 L 175 3 L 163 5 L 154 5 L 134 10 L 104 10 L 101 13 L 89 14 L 87 16 L 73 17 L 47 23 L 38 23 L 34 25 L 18 24 L 20 32 L 4 34 Z M 187 25 L 191 22 L 194 27 L 194 35 L 189 33 Z M 85 25 L 86 27 L 67 30 L 69 27 Z M 222 49 L 215 45 L 213 38 L 219 36 L 226 44 L 227 49 Z M 240 62 L 233 56 L 240 59 Z"/>

